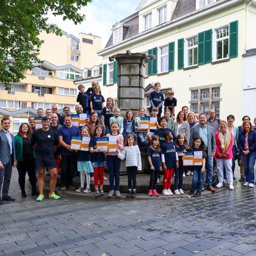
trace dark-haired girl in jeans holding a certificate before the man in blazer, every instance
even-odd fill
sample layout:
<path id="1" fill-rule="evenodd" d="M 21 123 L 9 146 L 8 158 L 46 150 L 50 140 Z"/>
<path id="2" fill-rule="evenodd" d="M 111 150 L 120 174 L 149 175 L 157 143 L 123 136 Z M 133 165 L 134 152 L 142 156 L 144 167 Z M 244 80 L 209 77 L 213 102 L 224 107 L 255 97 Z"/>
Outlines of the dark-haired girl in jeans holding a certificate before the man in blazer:
<path id="1" fill-rule="evenodd" d="M 194 152 L 194 155 L 202 156 L 203 158 L 203 163 L 200 165 L 196 165 L 192 167 L 192 172 L 193 172 L 193 180 L 191 184 L 191 189 L 189 191 L 189 195 L 193 195 L 195 193 L 196 186 L 199 182 L 197 191 L 194 195 L 194 197 L 198 197 L 201 195 L 202 189 L 204 187 L 204 172 L 205 172 L 205 154 L 204 154 L 204 142 L 202 138 L 196 137 L 193 140 L 192 144 L 192 150 Z M 195 154 L 196 152 L 196 154 Z"/>

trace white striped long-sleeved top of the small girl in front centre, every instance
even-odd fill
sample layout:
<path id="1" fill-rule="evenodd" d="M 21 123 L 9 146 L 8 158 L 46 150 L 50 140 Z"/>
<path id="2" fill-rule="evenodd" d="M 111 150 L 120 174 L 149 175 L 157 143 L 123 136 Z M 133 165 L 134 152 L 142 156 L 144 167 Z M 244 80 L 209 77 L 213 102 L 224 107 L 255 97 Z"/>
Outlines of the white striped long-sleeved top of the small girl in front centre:
<path id="1" fill-rule="evenodd" d="M 124 150 L 118 154 L 118 157 L 122 160 L 126 158 L 125 167 L 138 166 L 138 170 L 141 171 L 141 156 L 138 145 L 124 147 Z"/>

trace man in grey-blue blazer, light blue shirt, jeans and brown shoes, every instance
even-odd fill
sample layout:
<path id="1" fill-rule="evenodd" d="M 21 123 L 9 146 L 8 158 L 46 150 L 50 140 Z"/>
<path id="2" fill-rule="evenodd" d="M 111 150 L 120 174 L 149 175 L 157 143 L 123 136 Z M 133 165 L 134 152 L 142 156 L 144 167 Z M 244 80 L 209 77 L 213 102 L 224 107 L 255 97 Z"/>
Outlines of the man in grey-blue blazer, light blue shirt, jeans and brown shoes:
<path id="1" fill-rule="evenodd" d="M 212 187 L 212 157 L 216 152 L 216 141 L 214 129 L 206 124 L 207 118 L 204 113 L 199 116 L 199 125 L 191 128 L 189 146 L 192 147 L 194 138 L 201 137 L 205 145 L 205 170 L 206 170 L 206 188 L 214 193 L 216 190 Z"/>

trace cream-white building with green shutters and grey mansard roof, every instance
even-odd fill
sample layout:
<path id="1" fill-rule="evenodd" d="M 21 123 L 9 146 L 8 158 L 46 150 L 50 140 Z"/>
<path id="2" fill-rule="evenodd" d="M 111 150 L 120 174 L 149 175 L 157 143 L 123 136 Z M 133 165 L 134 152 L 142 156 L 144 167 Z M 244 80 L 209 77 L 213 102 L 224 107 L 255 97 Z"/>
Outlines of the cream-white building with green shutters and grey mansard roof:
<path id="1" fill-rule="evenodd" d="M 188 106 L 208 114 L 214 108 L 220 118 L 234 114 L 238 122 L 247 113 L 253 118 L 255 24 L 254 0 L 143 0 L 136 13 L 116 22 L 106 47 L 98 52 L 102 94 L 117 94 L 118 67 L 109 56 L 147 52 L 156 60 L 146 67 L 146 88 L 156 82 L 164 93 L 172 88 L 177 109 Z M 147 106 L 147 93 L 145 98 Z"/>

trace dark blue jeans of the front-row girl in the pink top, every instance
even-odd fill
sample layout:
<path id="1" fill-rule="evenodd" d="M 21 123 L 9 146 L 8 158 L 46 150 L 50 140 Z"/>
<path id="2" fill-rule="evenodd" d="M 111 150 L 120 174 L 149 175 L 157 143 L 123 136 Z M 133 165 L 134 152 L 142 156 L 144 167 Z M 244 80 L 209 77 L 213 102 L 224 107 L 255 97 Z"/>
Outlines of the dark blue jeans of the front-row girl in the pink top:
<path id="1" fill-rule="evenodd" d="M 107 156 L 107 163 L 109 172 L 109 190 L 119 190 L 121 159 L 117 156 Z M 116 184 L 115 188 L 114 179 Z"/>

